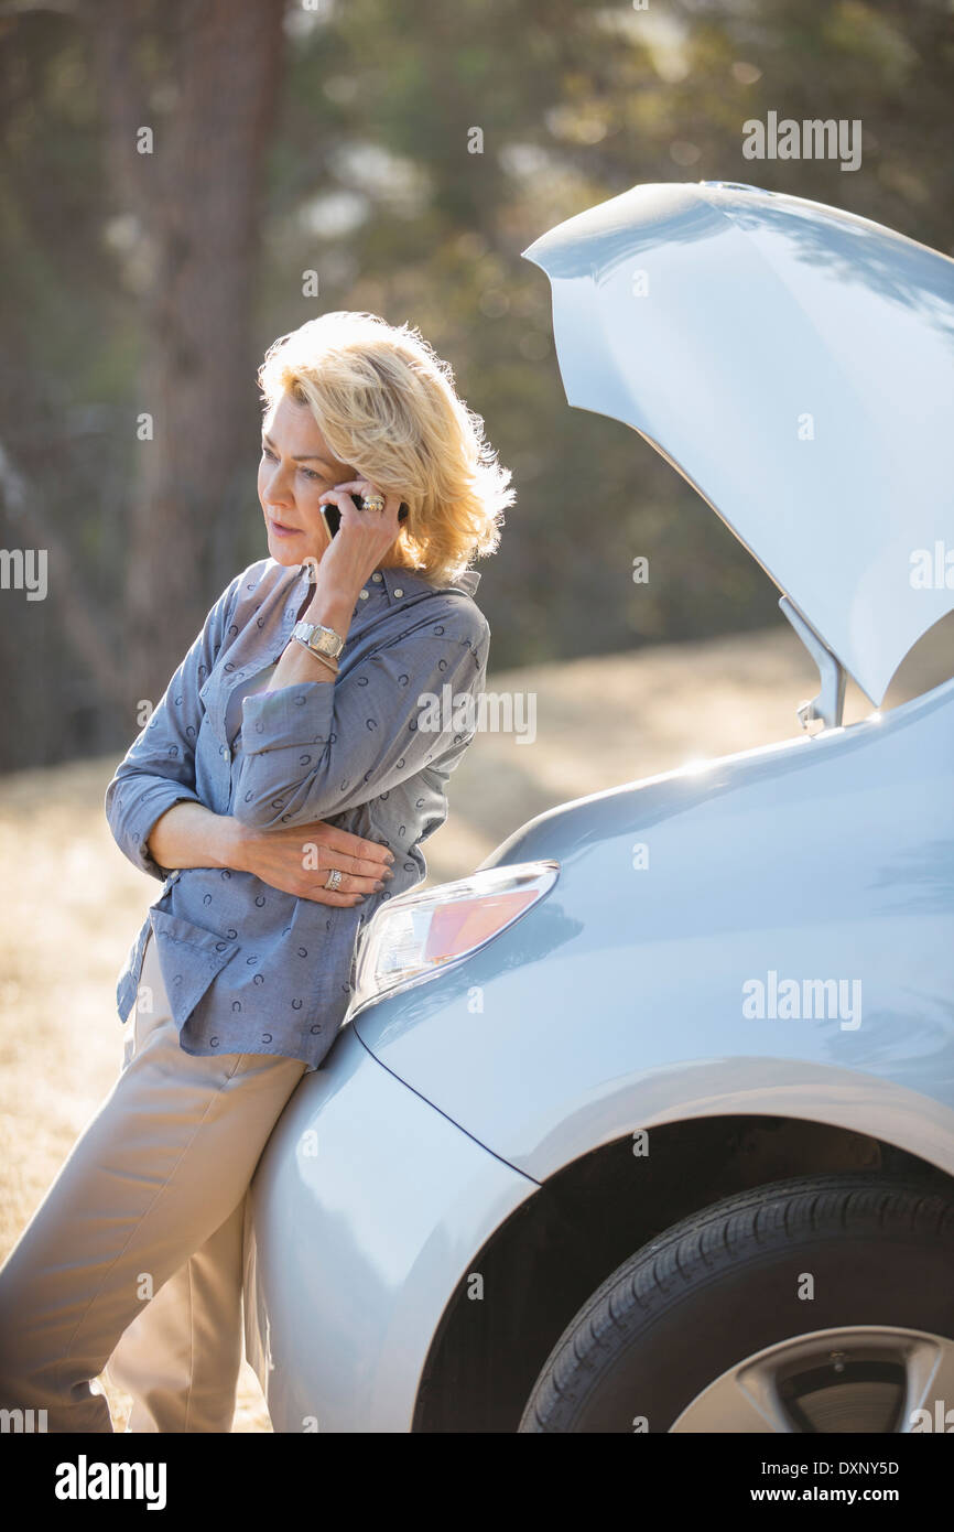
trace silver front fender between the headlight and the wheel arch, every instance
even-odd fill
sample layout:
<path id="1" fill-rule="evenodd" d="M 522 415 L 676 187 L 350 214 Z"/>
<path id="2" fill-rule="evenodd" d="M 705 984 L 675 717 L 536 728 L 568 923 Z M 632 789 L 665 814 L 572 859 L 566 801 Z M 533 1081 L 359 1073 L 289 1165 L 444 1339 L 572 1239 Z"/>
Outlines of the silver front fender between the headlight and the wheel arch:
<path id="1" fill-rule="evenodd" d="M 547 898 L 352 1025 L 541 1181 L 651 1123 L 744 1111 L 851 1128 L 954 1174 L 952 760 L 948 682 L 542 813 L 484 866 L 556 858 Z M 845 1005 L 750 1019 L 744 987 L 761 980 L 770 1011 L 772 973 L 799 999 L 805 980 L 844 982 Z"/>

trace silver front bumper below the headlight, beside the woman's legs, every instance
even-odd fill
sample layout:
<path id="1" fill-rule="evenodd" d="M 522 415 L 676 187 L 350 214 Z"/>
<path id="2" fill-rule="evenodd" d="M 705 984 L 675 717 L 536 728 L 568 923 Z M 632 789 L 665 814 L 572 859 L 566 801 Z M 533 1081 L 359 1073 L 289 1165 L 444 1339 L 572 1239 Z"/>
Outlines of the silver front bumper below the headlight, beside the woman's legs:
<path id="1" fill-rule="evenodd" d="M 536 1192 L 346 1028 L 259 1161 L 245 1347 L 276 1431 L 410 1431 L 469 1261 Z"/>

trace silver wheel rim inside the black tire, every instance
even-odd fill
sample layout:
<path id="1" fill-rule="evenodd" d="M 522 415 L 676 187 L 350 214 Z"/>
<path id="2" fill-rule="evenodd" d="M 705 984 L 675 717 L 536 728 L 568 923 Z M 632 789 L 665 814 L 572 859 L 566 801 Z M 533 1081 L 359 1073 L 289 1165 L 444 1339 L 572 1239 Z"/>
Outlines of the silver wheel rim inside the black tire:
<path id="1" fill-rule="evenodd" d="M 922 1330 L 851 1325 L 752 1353 L 701 1390 L 669 1429 L 893 1434 L 917 1423 L 920 1431 L 943 1431 L 951 1406 L 954 1340 Z M 928 1413 L 926 1420 L 919 1409 Z"/>

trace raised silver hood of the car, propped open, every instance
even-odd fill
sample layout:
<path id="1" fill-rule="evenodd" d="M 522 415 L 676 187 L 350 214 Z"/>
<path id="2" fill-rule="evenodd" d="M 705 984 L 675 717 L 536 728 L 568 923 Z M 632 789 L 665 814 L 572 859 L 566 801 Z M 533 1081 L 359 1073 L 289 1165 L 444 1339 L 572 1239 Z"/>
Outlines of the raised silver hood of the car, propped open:
<path id="1" fill-rule="evenodd" d="M 729 182 L 634 187 L 524 256 L 570 404 L 662 452 L 880 703 L 954 610 L 954 260 Z"/>

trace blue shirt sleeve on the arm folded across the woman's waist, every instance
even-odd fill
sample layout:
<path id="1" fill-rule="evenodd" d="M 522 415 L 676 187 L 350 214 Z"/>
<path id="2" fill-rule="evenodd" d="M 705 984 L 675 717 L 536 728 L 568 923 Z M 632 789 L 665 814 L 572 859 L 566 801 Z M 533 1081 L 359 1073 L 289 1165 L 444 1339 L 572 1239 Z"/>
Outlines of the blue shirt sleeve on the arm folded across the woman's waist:
<path id="1" fill-rule="evenodd" d="M 239 579 L 227 585 L 205 617 L 202 631 L 106 789 L 106 818 L 116 846 L 153 878 L 164 879 L 168 872 L 149 852 L 156 820 L 175 803 L 202 801 L 196 794 L 199 692 L 222 647 Z"/>

